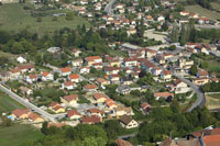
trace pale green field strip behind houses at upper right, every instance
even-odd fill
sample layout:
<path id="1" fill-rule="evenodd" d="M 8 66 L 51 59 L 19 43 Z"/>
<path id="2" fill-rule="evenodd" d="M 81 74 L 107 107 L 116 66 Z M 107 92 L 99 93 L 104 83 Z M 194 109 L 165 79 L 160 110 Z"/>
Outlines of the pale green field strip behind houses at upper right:
<path id="1" fill-rule="evenodd" d="M 202 7 L 198 5 L 198 4 L 197 5 L 187 5 L 185 8 L 189 12 L 196 12 L 196 13 L 199 13 L 200 15 L 210 18 L 212 20 L 216 20 L 216 19 L 220 18 L 220 13 L 219 12 L 207 10 L 207 9 L 205 9 L 205 8 L 202 8 Z"/>

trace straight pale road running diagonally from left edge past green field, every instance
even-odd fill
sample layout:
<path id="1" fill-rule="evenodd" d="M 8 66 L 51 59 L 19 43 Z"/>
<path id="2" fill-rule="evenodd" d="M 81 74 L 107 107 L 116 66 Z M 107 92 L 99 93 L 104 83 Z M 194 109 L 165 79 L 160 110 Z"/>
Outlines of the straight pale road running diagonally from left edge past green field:
<path id="1" fill-rule="evenodd" d="M 9 94 L 9 97 L 14 99 L 19 103 L 25 105 L 26 108 L 30 108 L 31 110 L 34 110 L 35 112 L 40 113 L 44 119 L 50 120 L 50 121 L 52 121 L 54 123 L 57 123 L 56 117 L 64 116 L 64 114 L 54 114 L 54 115 L 52 115 L 52 114 L 45 112 L 44 110 L 37 108 L 36 105 L 34 105 L 34 104 L 30 103 L 29 101 L 24 100 L 23 98 L 19 97 L 18 94 L 12 92 L 8 88 L 3 87 L 2 85 L 0 85 L 0 90 L 6 92 L 7 94 Z"/>

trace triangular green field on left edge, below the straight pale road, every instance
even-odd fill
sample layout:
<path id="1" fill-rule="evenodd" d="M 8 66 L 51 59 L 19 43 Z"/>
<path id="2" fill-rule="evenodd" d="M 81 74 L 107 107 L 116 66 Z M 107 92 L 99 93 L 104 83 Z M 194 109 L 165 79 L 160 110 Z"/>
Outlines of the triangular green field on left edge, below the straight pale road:
<path id="1" fill-rule="evenodd" d="M 2 112 L 11 112 L 14 109 L 19 109 L 19 108 L 24 109 L 25 106 L 21 105 L 20 103 L 11 99 L 9 96 L 0 91 L 0 110 Z"/>

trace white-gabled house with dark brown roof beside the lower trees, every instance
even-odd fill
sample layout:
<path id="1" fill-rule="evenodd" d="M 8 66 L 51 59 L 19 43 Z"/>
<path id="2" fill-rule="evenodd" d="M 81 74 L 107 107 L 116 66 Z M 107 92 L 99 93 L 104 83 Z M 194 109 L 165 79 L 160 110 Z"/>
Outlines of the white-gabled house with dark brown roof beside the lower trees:
<path id="1" fill-rule="evenodd" d="M 119 121 L 120 121 L 121 126 L 125 128 L 134 128 L 139 126 L 139 123 L 132 120 L 132 117 L 129 115 L 121 116 Z"/>

